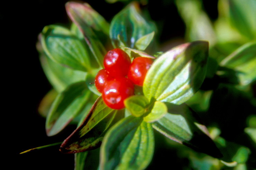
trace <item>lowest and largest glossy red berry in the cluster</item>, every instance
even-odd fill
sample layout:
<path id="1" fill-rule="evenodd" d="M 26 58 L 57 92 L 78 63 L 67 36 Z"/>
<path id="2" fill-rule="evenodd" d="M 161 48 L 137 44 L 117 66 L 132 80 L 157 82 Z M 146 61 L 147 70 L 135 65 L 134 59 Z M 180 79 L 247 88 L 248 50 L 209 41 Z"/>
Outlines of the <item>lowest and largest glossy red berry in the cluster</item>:
<path id="1" fill-rule="evenodd" d="M 124 100 L 134 95 L 134 85 L 124 77 L 107 81 L 102 93 L 105 104 L 112 109 L 125 108 Z"/>

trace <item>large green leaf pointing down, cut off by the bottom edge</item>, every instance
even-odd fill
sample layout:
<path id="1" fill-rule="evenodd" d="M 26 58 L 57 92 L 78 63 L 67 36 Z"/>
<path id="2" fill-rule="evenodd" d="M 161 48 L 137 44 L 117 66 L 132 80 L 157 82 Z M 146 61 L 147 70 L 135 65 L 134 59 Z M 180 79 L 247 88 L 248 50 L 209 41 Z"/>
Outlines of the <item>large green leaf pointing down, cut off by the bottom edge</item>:
<path id="1" fill-rule="evenodd" d="M 129 116 L 113 126 L 102 141 L 100 170 L 142 170 L 154 152 L 154 133 L 150 123 Z"/>

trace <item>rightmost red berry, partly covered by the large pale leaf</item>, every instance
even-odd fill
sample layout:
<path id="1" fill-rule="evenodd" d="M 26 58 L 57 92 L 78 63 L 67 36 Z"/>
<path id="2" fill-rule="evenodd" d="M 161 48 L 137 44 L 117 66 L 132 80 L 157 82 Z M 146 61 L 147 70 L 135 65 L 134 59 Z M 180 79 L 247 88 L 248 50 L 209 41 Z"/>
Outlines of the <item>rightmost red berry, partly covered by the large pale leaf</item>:
<path id="1" fill-rule="evenodd" d="M 143 86 L 145 76 L 153 60 L 147 57 L 135 58 L 129 68 L 128 78 L 136 85 Z"/>

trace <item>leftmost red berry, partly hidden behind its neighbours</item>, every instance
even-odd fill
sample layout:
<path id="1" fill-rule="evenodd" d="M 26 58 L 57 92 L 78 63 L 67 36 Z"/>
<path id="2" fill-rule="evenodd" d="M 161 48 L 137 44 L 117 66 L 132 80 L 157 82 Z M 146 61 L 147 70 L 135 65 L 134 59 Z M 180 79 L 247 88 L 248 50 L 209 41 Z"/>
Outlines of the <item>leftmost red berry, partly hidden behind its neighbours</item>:
<path id="1" fill-rule="evenodd" d="M 97 88 L 97 90 L 98 90 L 99 92 L 102 93 L 106 82 L 107 82 L 108 80 L 111 80 L 111 79 L 112 79 L 112 77 L 109 76 L 109 73 L 107 72 L 107 70 L 106 70 L 106 69 L 101 69 L 101 70 L 97 73 L 97 75 L 96 75 L 96 77 L 95 77 L 95 80 L 94 80 L 94 82 L 95 82 L 95 87 Z"/>

